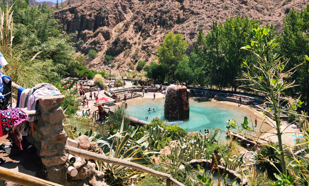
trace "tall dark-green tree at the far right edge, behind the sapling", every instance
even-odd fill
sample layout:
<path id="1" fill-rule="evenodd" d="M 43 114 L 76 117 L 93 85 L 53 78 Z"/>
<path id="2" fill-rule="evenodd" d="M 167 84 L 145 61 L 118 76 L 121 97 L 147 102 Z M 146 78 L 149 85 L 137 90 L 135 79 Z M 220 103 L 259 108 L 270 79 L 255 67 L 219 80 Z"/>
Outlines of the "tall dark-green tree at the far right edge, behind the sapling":
<path id="1" fill-rule="evenodd" d="M 300 86 L 288 90 L 292 97 L 302 95 L 303 101 L 309 107 L 309 63 L 305 60 L 305 55 L 309 54 L 309 4 L 301 11 L 294 8 L 283 19 L 283 33 L 278 35 L 280 42 L 279 53 L 283 54 L 284 60 L 289 59 L 288 68 L 303 63 L 291 80 Z"/>

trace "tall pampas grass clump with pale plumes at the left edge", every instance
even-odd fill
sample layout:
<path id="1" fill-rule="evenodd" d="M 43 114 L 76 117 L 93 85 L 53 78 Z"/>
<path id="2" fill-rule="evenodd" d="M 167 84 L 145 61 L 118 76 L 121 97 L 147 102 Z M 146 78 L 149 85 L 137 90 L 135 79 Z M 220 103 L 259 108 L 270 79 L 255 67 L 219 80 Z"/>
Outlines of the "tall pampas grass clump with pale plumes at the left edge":
<path id="1" fill-rule="evenodd" d="M 6 6 L 6 14 L 0 7 L 0 51 L 8 62 L 1 70 L 19 86 L 31 88 L 47 81 L 52 62 L 38 60 L 40 52 L 27 49 L 24 44 L 13 45 L 13 5 Z"/>

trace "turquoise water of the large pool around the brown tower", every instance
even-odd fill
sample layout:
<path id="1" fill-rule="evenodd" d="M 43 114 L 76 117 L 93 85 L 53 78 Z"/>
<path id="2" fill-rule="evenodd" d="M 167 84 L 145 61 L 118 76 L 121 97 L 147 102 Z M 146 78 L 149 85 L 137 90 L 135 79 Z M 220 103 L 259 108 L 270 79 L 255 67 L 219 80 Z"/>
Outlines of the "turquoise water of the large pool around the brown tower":
<path id="1" fill-rule="evenodd" d="M 132 117 L 136 117 L 141 120 L 146 120 L 145 117 L 148 116 L 148 120 L 151 121 L 153 117 L 158 116 L 162 120 L 164 118 L 164 101 L 162 97 L 158 97 L 155 100 L 149 98 L 133 99 L 128 102 L 128 114 Z M 210 101 L 210 99 L 197 98 L 189 99 L 190 104 L 190 118 L 183 121 L 167 121 L 170 125 L 177 124 L 181 128 L 192 131 L 201 131 L 205 129 L 215 129 L 219 127 L 222 132 L 226 129 L 225 126 L 228 125 L 228 120 L 235 119 L 239 123 L 243 122 L 244 116 L 250 118 L 250 116 L 255 117 L 255 113 L 244 106 L 237 107 L 237 105 L 229 104 L 230 102 L 223 101 Z M 148 113 L 148 108 L 151 109 L 151 113 Z M 153 112 L 153 109 L 156 111 Z M 225 135 L 224 135 L 225 136 Z"/>

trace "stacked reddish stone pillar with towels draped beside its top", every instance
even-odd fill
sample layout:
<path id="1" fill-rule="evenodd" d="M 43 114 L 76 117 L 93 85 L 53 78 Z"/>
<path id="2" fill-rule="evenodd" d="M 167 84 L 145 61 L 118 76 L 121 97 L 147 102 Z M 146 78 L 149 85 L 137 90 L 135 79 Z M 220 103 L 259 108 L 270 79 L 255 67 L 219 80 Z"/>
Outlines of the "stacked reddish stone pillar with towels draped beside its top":
<path id="1" fill-rule="evenodd" d="M 63 124 L 65 115 L 61 108 L 64 98 L 64 95 L 40 98 L 37 110 L 41 110 L 41 116 L 37 116 L 35 131 L 28 130 L 28 141 L 35 145 L 46 167 L 46 179 L 61 185 L 66 185 L 65 164 L 69 156 Z"/>

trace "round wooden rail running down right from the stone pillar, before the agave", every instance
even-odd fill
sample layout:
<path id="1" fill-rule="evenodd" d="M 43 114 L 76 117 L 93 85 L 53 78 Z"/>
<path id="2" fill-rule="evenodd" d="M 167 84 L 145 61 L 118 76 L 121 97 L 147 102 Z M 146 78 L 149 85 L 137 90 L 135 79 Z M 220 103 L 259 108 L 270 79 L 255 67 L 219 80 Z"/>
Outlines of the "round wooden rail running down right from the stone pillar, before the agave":
<path id="1" fill-rule="evenodd" d="M 87 150 L 82 150 L 82 149 L 78 149 L 75 147 L 68 147 L 70 154 L 74 154 L 74 155 L 78 155 L 78 156 L 83 156 L 85 158 L 90 158 L 90 159 L 95 159 L 101 162 L 106 162 L 106 163 L 113 163 L 116 165 L 121 165 L 121 166 L 125 166 L 125 167 L 129 167 L 129 168 L 133 168 L 142 172 L 146 172 L 150 175 L 154 175 L 157 177 L 161 177 L 164 179 L 167 179 L 167 185 L 170 185 L 171 182 L 173 182 L 174 184 L 178 185 L 178 186 L 185 186 L 184 184 L 180 183 L 179 181 L 175 180 L 174 178 L 171 177 L 171 175 L 163 173 L 163 172 L 159 172 L 159 171 L 155 171 L 152 170 L 150 168 L 144 167 L 142 165 L 139 165 L 137 163 L 133 163 L 133 162 L 129 162 L 129 161 L 125 161 L 125 160 L 121 160 L 121 159 L 117 159 L 117 158 L 113 158 L 113 157 L 109 157 L 109 156 L 104 156 L 101 154 L 96 154 Z"/>

